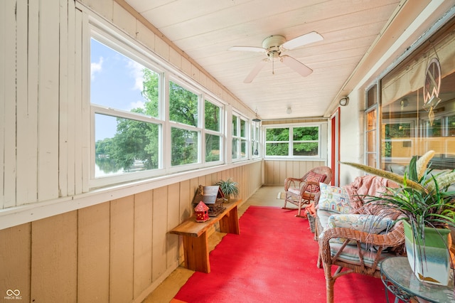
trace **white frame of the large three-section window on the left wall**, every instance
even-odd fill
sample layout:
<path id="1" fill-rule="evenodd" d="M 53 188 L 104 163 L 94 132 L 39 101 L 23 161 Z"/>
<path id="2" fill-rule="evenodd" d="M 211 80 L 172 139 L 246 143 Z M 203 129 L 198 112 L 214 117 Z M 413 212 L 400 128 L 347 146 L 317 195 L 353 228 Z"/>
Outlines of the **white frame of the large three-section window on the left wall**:
<path id="1" fill-rule="evenodd" d="M 132 41 L 129 37 L 117 33 L 111 28 L 101 26 L 98 21 L 90 21 L 90 26 L 87 31 L 87 41 L 85 42 L 85 49 L 87 53 L 90 51 L 91 39 L 104 44 L 108 48 L 112 48 L 125 57 L 140 63 L 146 68 L 149 68 L 155 73 L 159 73 L 159 117 L 150 117 L 127 110 L 120 110 L 104 105 L 92 103 L 90 100 L 90 55 L 86 59 L 86 64 L 89 68 L 87 71 L 87 105 L 90 107 L 90 136 L 87 136 L 87 142 L 90 144 L 90 155 L 88 160 L 90 162 L 90 169 L 88 169 L 88 187 L 100 188 L 103 186 L 112 186 L 119 183 L 139 181 L 143 179 L 154 179 L 169 174 L 181 173 L 182 171 L 191 171 L 204 167 L 218 166 L 220 164 L 227 164 L 225 157 L 226 149 L 226 129 L 225 129 L 225 116 L 227 112 L 227 103 L 220 100 L 215 95 L 212 95 L 205 87 L 196 83 L 188 76 L 183 75 L 181 71 L 176 70 L 166 61 L 157 58 L 154 53 L 149 52 L 144 46 L 139 45 Z M 198 124 L 191 126 L 179 122 L 173 122 L 169 119 L 169 81 L 180 85 L 181 87 L 195 93 L 198 96 Z M 220 108 L 220 131 L 213 131 L 205 129 L 205 101 Z M 159 143 L 159 168 L 134 171 L 122 174 L 113 174 L 102 177 L 95 177 L 95 115 L 108 115 L 111 117 L 119 117 L 125 119 L 134 119 L 140 122 L 159 124 L 160 134 Z M 198 132 L 198 161 L 194 164 L 183 164 L 178 166 L 171 166 L 171 127 L 179 129 L 186 129 Z M 205 134 L 214 134 L 220 136 L 220 159 L 218 161 L 205 161 Z M 168 151 L 168 152 L 164 152 Z"/>

